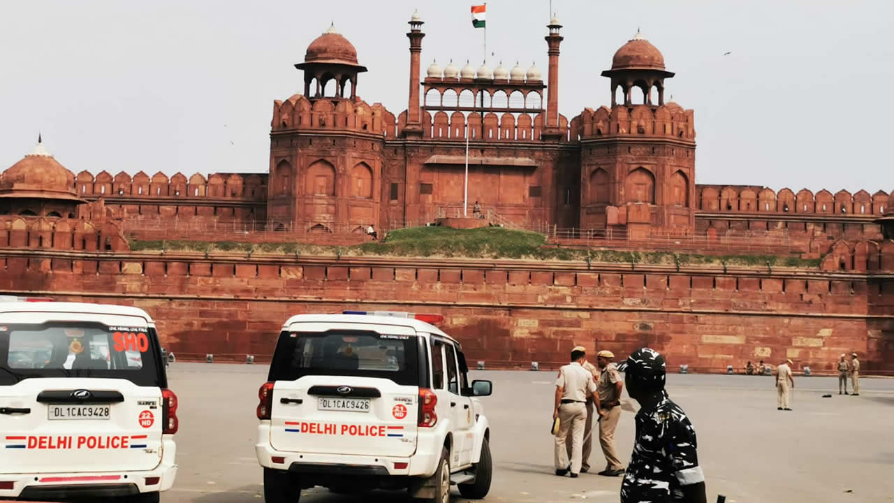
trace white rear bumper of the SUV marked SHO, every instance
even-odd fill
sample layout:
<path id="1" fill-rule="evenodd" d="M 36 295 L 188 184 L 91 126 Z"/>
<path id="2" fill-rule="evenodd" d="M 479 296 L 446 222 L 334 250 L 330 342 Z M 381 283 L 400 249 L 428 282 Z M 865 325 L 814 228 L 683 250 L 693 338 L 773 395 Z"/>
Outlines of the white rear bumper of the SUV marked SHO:
<path id="1" fill-rule="evenodd" d="M 99 498 L 169 490 L 177 476 L 173 440 L 164 441 L 163 452 L 162 462 L 146 471 L 0 473 L 0 481 L 13 482 L 12 490 L 0 490 L 0 498 Z M 88 466 L 84 468 L 89 470 Z M 146 479 L 152 477 L 158 477 L 158 483 L 148 485 Z"/>

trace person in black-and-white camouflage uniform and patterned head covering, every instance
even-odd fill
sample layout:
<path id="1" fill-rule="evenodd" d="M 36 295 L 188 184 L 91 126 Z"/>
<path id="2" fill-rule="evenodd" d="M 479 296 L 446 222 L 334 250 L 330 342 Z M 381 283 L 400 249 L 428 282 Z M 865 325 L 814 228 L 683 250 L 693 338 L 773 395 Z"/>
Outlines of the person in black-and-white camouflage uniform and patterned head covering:
<path id="1" fill-rule="evenodd" d="M 664 389 L 664 357 L 644 347 L 630 354 L 620 371 L 626 373 L 628 395 L 641 407 L 621 503 L 706 503 L 696 431 Z"/>

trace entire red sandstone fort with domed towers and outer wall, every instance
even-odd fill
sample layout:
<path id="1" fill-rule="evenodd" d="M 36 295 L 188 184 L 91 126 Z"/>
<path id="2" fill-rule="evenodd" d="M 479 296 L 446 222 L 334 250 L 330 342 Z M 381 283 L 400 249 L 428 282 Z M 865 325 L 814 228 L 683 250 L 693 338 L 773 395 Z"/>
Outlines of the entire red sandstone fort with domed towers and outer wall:
<path id="1" fill-rule="evenodd" d="M 423 77 L 422 26 L 414 14 L 408 105 L 397 115 L 358 97 L 367 69 L 347 38 L 330 28 L 313 40 L 295 65 L 303 94 L 274 101 L 264 174 L 73 175 L 38 142 L 0 178 L 0 291 L 138 305 L 181 356 L 263 358 L 291 314 L 365 307 L 443 312 L 467 354 L 493 367 L 563 362 L 573 342 L 621 355 L 651 345 L 704 371 L 786 358 L 831 371 L 838 354 L 856 352 L 866 371 L 894 372 L 894 192 L 696 184 L 694 113 L 665 100 L 674 73 L 639 33 L 603 72 L 611 106 L 569 120 L 559 113 L 556 19 L 545 81 L 519 64 L 433 63 Z M 129 246 L 352 244 L 369 225 L 459 216 L 467 139 L 468 200 L 552 244 L 775 254 L 820 267 Z"/>

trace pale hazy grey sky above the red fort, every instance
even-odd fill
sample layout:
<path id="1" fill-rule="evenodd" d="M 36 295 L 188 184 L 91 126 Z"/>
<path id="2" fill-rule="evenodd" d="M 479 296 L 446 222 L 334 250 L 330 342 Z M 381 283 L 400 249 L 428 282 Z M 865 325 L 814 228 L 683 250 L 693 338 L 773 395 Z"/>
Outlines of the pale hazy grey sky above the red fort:
<path id="1" fill-rule="evenodd" d="M 418 7 L 422 70 L 481 63 L 473 2 L 0 3 L 0 168 L 43 132 L 78 173 L 266 172 L 274 99 L 303 89 L 292 64 L 330 21 L 369 68 L 358 95 L 407 107 L 407 21 Z M 561 114 L 611 103 L 599 75 L 641 27 L 696 111 L 696 183 L 894 189 L 894 2 L 553 0 L 564 28 Z M 491 66 L 546 77 L 549 1 L 491 0 Z M 723 53 L 731 51 L 730 55 Z"/>

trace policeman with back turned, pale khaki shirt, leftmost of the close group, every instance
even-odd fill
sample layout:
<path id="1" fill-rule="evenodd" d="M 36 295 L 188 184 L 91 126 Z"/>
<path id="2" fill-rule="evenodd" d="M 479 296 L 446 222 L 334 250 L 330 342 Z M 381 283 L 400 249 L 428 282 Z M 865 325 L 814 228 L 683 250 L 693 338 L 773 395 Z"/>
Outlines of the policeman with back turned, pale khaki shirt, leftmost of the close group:
<path id="1" fill-rule="evenodd" d="M 559 431 L 555 436 L 556 475 L 571 472 L 571 478 L 580 473 L 581 455 L 584 447 L 584 427 L 586 423 L 586 398 L 596 391 L 593 374 L 584 369 L 586 354 L 574 348 L 571 362 L 559 370 L 556 378 L 555 407 L 553 421 L 559 419 Z M 598 405 L 596 405 L 598 407 Z M 598 410 L 597 410 L 598 412 Z M 569 464 L 565 443 L 571 433 L 571 460 Z"/>

